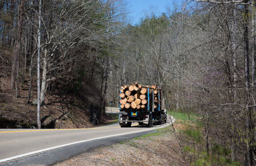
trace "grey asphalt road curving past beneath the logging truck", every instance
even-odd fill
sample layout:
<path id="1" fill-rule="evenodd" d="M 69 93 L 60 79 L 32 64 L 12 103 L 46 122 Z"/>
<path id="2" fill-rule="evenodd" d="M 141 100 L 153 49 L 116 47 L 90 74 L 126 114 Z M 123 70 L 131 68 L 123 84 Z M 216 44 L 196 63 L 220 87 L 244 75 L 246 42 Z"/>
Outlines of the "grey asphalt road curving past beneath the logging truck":
<path id="1" fill-rule="evenodd" d="M 119 114 L 117 109 L 107 112 Z M 109 112 L 110 113 L 110 112 Z M 83 129 L 0 129 L 0 165 L 51 165 L 89 149 L 152 132 L 156 128 L 116 124 Z"/>

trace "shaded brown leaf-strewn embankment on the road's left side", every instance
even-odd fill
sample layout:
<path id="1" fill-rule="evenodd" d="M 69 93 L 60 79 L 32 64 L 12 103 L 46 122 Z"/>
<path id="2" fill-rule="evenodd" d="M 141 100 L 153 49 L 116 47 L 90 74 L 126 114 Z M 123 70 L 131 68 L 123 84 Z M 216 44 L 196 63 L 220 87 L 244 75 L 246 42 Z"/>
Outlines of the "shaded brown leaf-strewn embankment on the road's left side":
<path id="1" fill-rule="evenodd" d="M 0 84 L 0 128 L 36 128 L 36 89 L 28 103 L 28 80 L 20 85 L 20 98 L 10 90 L 10 77 L 2 77 Z M 35 83 L 35 82 L 34 82 Z M 35 87 L 35 86 L 34 86 Z M 95 118 L 100 110 L 100 95 L 92 84 L 81 84 L 76 93 L 48 91 L 41 107 L 42 128 L 88 128 L 99 121 Z M 104 116 L 100 123 L 111 118 Z"/>

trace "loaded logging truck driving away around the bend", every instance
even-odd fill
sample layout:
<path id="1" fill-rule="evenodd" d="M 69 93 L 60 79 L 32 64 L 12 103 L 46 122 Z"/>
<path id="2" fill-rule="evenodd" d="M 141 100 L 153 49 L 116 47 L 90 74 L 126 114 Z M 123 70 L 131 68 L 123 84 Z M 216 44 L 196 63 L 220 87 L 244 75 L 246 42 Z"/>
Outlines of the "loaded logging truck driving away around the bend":
<path id="1" fill-rule="evenodd" d="M 121 127 L 131 127 L 132 123 L 152 127 L 166 123 L 166 110 L 163 109 L 163 92 L 157 86 L 143 86 L 136 82 L 122 86 L 119 94 L 119 116 Z"/>

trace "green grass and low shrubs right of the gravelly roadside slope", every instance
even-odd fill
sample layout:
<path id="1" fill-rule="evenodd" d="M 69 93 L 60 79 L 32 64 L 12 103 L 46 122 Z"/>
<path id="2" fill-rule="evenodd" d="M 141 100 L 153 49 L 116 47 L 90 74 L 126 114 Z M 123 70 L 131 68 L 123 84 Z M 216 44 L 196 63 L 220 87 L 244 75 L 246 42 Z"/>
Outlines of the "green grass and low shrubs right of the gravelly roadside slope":
<path id="1" fill-rule="evenodd" d="M 222 146 L 214 140 L 207 142 L 205 137 L 207 131 L 205 131 L 202 117 L 184 112 L 168 113 L 177 120 L 172 126 L 172 132 L 178 138 L 180 148 L 186 153 L 186 160 L 191 165 L 241 165 L 230 158 L 230 147 Z M 212 146 L 206 147 L 209 144 Z"/>

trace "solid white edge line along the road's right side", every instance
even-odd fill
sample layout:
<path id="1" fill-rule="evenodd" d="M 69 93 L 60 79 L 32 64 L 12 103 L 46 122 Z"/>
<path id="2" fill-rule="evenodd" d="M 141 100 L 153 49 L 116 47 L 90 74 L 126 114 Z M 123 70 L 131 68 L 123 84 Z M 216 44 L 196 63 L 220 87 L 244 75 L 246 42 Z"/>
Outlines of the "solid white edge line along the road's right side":
<path id="1" fill-rule="evenodd" d="M 174 119 L 174 118 L 172 117 L 172 119 Z M 167 125 L 160 126 L 159 128 L 164 128 L 164 127 L 169 126 L 169 125 L 170 125 L 170 123 L 167 124 Z M 95 138 L 95 139 L 81 140 L 81 141 L 78 141 L 78 142 L 72 142 L 70 144 L 63 144 L 61 146 L 49 147 L 49 148 L 46 148 L 46 149 L 41 149 L 39 151 L 32 151 L 32 152 L 29 152 L 29 153 L 24 153 L 22 155 L 13 156 L 13 157 L 10 157 L 10 158 L 4 158 L 4 159 L 0 160 L 0 163 L 1 162 L 6 162 L 6 161 L 9 161 L 9 160 L 13 160 L 13 159 L 16 159 L 16 158 L 21 158 L 21 157 L 24 157 L 24 156 L 33 155 L 35 153 L 41 153 L 41 152 L 44 152 L 44 151 L 49 151 L 49 150 L 52 150 L 52 149 L 57 149 L 57 148 L 60 148 L 60 147 L 70 146 L 70 145 L 79 144 L 79 143 L 83 143 L 83 142 L 89 142 L 91 140 L 106 139 L 106 138 L 109 138 L 109 137 L 116 137 L 116 136 L 121 136 L 121 135 L 129 135 L 131 133 L 148 132 L 150 130 L 156 130 L 156 129 L 159 129 L 159 128 L 150 128 L 148 130 L 143 130 L 143 131 L 138 131 L 138 132 L 128 132 L 128 133 L 120 133 L 120 134 L 116 134 L 116 135 L 108 135 L 108 136 L 99 137 L 99 138 Z"/>

